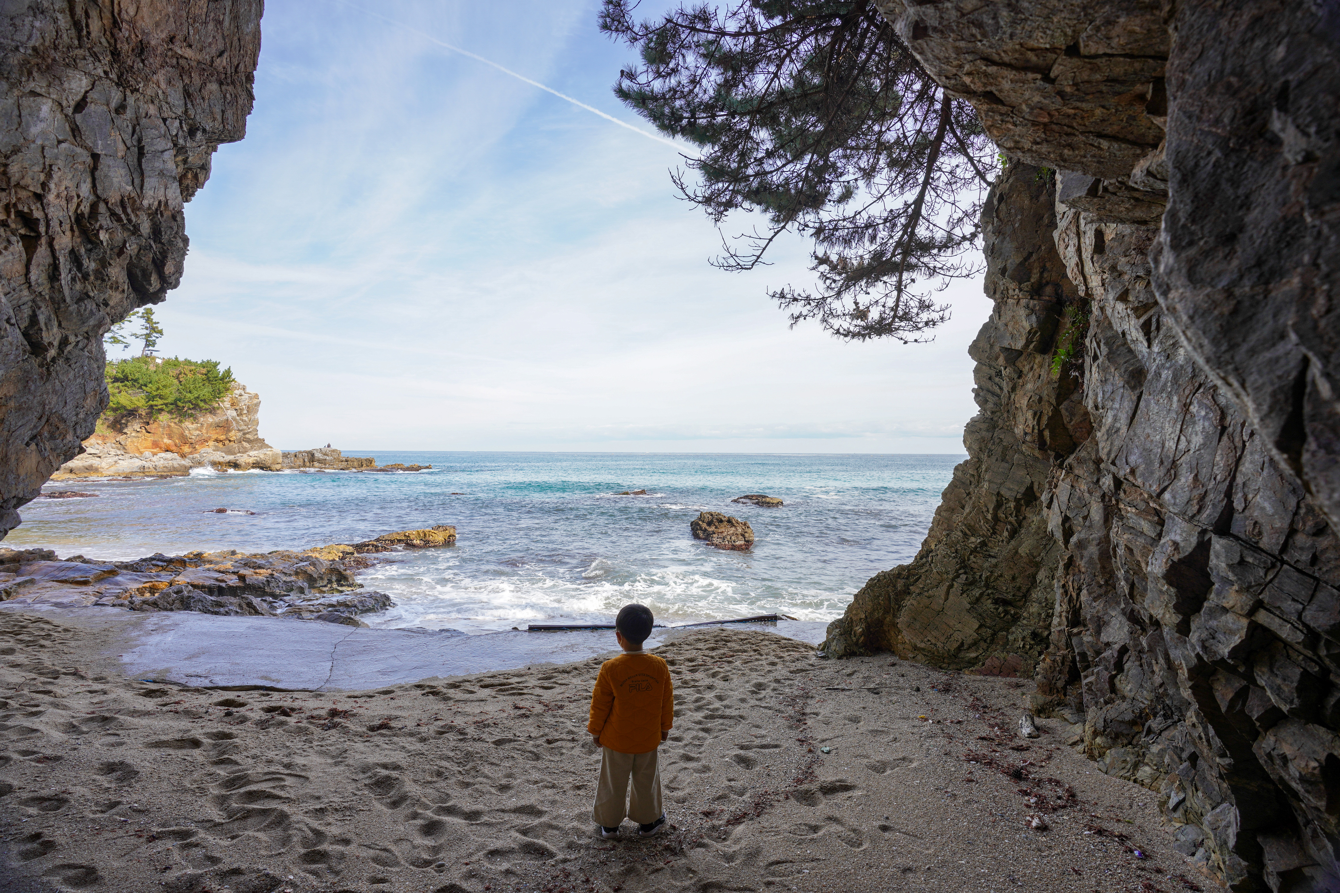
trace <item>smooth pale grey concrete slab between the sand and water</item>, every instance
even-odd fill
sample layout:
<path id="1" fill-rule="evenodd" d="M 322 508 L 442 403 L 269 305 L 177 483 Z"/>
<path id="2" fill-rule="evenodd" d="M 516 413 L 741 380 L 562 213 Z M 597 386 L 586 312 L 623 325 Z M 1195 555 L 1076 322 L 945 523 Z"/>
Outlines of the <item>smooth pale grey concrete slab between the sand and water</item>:
<path id="1" fill-rule="evenodd" d="M 618 651 L 608 631 L 465 636 L 189 611 L 0 609 L 39 613 L 99 633 L 107 641 L 107 656 L 118 660 L 130 677 L 201 688 L 354 691 L 433 676 L 564 664 Z M 783 621 L 757 628 L 817 644 L 824 624 Z M 649 645 L 678 635 L 674 629 L 657 631 Z"/>

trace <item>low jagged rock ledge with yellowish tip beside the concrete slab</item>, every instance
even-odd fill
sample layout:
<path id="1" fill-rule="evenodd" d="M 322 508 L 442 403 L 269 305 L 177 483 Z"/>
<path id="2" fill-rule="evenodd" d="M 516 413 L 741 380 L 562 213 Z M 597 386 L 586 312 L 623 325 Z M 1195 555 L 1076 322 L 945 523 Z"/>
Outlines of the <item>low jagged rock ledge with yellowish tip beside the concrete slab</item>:
<path id="1" fill-rule="evenodd" d="M 364 590 L 355 580 L 356 572 L 379 561 L 370 556 L 454 542 L 456 527 L 437 525 L 364 542 L 261 554 L 189 552 L 96 561 L 83 556 L 59 560 L 50 549 L 0 549 L 0 601 L 292 617 L 364 627 L 359 615 L 391 606 L 390 596 Z"/>

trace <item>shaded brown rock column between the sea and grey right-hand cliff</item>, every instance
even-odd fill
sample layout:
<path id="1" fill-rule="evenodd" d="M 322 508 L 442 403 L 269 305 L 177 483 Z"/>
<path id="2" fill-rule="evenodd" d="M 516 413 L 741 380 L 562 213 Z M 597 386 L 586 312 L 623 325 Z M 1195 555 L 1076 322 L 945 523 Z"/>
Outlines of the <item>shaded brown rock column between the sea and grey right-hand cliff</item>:
<path id="1" fill-rule="evenodd" d="M 1047 647 L 1061 544 L 1048 532 L 1045 497 L 1055 463 L 1091 427 L 1079 380 L 1051 368 L 1061 308 L 1076 289 L 1052 241 L 1055 190 L 1036 167 L 1006 169 L 982 226 L 996 309 L 969 348 L 980 408 L 963 432 L 969 458 L 917 558 L 856 593 L 828 628 L 828 653 L 1018 668 Z"/>

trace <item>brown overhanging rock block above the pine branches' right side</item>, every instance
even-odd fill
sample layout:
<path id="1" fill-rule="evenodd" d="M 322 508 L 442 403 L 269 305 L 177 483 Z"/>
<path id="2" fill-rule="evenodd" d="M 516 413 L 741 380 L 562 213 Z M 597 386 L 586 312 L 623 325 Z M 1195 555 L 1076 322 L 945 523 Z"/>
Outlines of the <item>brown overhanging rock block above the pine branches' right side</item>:
<path id="1" fill-rule="evenodd" d="M 1159 0 L 876 0 L 927 71 L 1012 158 L 1127 177 L 1163 141 Z"/>

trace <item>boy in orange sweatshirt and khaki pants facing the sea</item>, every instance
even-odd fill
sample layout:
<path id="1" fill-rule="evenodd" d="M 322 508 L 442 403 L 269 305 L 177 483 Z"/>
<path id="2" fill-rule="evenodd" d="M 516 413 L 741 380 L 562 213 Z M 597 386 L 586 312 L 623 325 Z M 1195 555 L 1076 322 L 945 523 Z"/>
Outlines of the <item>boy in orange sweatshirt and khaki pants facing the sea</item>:
<path id="1" fill-rule="evenodd" d="M 600 837 L 618 837 L 624 817 L 638 823 L 639 837 L 651 837 L 666 823 L 657 747 L 674 724 L 674 688 L 666 661 L 642 651 L 651 635 L 649 608 L 624 605 L 614 621 L 614 635 L 623 653 L 600 665 L 587 723 L 602 748 L 592 814 Z M 624 807 L 630 777 L 632 797 Z"/>

